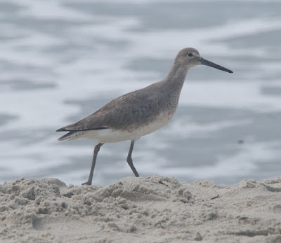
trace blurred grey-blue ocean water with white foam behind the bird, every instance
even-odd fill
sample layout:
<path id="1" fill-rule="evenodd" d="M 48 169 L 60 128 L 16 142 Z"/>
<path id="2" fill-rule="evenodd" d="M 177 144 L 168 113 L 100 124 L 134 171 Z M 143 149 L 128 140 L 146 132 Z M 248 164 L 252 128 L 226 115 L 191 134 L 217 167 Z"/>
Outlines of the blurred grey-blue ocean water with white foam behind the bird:
<path id="1" fill-rule="evenodd" d="M 179 181 L 281 174 L 280 1 L 0 1 L 0 183 L 88 179 L 96 141 L 60 127 L 162 80 L 185 47 L 195 67 L 169 125 L 136 142 L 141 176 Z M 100 148 L 93 183 L 133 176 L 129 141 Z"/>

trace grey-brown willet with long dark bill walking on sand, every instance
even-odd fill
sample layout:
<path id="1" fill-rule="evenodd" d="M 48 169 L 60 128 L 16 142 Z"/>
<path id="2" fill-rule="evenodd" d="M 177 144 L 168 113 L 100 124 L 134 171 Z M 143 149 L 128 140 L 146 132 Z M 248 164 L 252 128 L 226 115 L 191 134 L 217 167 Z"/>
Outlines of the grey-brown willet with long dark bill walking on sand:
<path id="1" fill-rule="evenodd" d="M 82 185 L 91 185 L 98 151 L 105 143 L 131 140 L 127 162 L 133 174 L 139 176 L 131 158 L 133 144 L 169 123 L 178 106 L 188 70 L 200 64 L 233 73 L 214 62 L 204 60 L 194 48 L 185 48 L 176 55 L 171 71 L 162 81 L 113 99 L 91 116 L 56 131 L 68 132 L 58 140 L 84 137 L 98 141 L 93 151 L 89 179 Z"/>

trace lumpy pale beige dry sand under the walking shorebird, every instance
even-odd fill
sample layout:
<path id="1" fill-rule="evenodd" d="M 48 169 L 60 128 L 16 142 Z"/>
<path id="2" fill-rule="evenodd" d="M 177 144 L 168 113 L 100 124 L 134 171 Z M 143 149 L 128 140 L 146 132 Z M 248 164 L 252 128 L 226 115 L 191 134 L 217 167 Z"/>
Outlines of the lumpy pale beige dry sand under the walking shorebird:
<path id="1" fill-rule="evenodd" d="M 281 242 L 281 177 L 235 186 L 128 177 L 0 186 L 0 242 Z"/>

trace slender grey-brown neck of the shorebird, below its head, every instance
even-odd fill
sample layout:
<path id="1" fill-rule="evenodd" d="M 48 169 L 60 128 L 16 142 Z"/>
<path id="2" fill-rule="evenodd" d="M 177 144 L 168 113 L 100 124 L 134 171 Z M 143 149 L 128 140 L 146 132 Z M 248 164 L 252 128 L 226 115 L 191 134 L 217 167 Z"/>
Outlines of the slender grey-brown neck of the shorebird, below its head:
<path id="1" fill-rule="evenodd" d="M 173 95 L 180 95 L 187 73 L 188 68 L 186 66 L 174 64 L 168 76 L 164 79 L 169 92 Z"/>

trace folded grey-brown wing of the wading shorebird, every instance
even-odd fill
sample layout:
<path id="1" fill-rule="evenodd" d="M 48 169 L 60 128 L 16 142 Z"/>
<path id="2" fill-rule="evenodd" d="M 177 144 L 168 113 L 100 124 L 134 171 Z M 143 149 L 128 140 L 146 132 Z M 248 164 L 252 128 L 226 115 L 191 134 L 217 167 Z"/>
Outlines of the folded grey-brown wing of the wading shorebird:
<path id="1" fill-rule="evenodd" d="M 153 117 L 157 116 L 160 109 L 159 102 L 155 102 L 158 100 L 155 99 L 155 93 L 157 92 L 153 92 L 153 89 L 146 91 L 136 90 L 113 99 L 90 116 L 57 131 L 129 129 L 136 125 L 147 125 Z"/>

